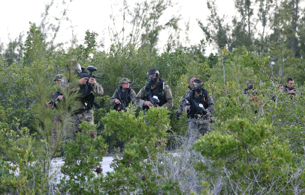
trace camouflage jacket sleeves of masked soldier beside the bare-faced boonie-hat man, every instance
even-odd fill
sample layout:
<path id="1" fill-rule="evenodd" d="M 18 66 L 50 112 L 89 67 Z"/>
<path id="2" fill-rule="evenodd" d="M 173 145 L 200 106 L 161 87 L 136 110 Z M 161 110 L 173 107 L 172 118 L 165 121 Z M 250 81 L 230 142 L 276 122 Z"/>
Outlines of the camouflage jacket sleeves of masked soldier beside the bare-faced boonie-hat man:
<path id="1" fill-rule="evenodd" d="M 160 79 L 159 79 L 160 80 Z M 154 88 L 151 86 L 151 89 L 153 90 Z M 137 96 L 136 96 L 136 105 L 140 108 L 145 108 L 146 105 L 144 105 L 144 102 L 145 101 L 148 101 L 146 100 L 146 90 L 145 90 L 145 87 L 144 86 L 142 89 L 140 89 L 140 91 L 138 92 Z M 171 92 L 171 88 L 170 86 L 164 84 L 163 86 L 160 86 L 160 87 L 163 87 L 163 90 L 162 90 L 162 93 L 161 93 L 161 96 L 165 96 L 165 99 L 166 99 L 166 103 L 164 103 L 163 107 L 167 107 L 167 110 L 169 110 L 170 108 L 173 107 L 174 105 L 174 102 L 173 102 L 173 94 Z M 160 98 L 159 98 L 160 99 Z"/>

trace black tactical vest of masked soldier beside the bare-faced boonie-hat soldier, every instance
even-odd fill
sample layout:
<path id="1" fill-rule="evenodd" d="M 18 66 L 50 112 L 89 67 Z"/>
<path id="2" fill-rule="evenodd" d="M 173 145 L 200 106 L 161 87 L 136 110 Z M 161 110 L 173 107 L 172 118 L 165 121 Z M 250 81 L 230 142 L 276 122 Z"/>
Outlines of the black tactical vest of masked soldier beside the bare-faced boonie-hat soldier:
<path id="1" fill-rule="evenodd" d="M 167 103 L 165 95 L 162 96 L 162 91 L 163 91 L 163 83 L 164 79 L 159 78 L 159 83 L 156 85 L 154 89 L 151 88 L 151 84 L 147 82 L 145 86 L 145 91 L 146 91 L 146 99 L 149 101 L 149 96 L 158 96 L 159 98 L 159 103 L 158 106 L 162 106 L 163 104 Z"/>

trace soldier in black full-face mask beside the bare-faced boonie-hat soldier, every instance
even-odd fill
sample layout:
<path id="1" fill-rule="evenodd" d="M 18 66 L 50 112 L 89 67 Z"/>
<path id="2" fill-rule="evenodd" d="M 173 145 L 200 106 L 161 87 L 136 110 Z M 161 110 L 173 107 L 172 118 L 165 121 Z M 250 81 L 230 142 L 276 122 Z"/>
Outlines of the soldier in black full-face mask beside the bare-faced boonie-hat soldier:
<path id="1" fill-rule="evenodd" d="M 172 108 L 174 103 L 171 88 L 164 83 L 164 79 L 159 78 L 159 71 L 152 68 L 147 72 L 147 77 L 149 82 L 138 92 L 135 100 L 136 105 L 143 109 L 149 109 L 153 106 L 149 97 L 157 96 L 159 99 L 158 108 Z"/>

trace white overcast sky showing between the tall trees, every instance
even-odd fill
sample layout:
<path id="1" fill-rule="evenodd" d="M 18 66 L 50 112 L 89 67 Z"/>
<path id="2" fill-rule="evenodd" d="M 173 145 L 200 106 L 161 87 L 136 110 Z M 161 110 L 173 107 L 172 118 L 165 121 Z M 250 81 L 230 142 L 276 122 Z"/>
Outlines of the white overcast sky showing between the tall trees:
<path id="1" fill-rule="evenodd" d="M 141 0 L 139 0 L 141 1 Z M 29 22 L 34 22 L 40 24 L 42 17 L 41 14 L 44 13 L 45 4 L 51 2 L 51 0 L 10 0 L 1 1 L 0 8 L 0 18 L 1 28 L 0 28 L 0 43 L 7 44 L 9 40 L 14 40 L 19 34 L 24 34 L 23 41 L 26 39 L 26 32 L 28 31 L 30 25 Z M 109 27 L 113 28 L 113 22 L 111 21 L 109 15 L 117 16 L 116 29 L 120 31 L 122 28 L 122 13 L 120 13 L 120 8 L 123 7 L 123 0 L 66 0 L 68 7 L 67 16 L 71 21 L 63 21 L 57 38 L 55 42 L 68 42 L 64 47 L 68 47 L 71 44 L 72 34 L 77 37 L 77 44 L 84 43 L 85 31 L 88 29 L 90 31 L 95 31 L 99 34 L 97 41 L 103 40 L 105 48 L 102 50 L 109 50 L 111 45 Z M 134 5 L 135 0 L 127 0 L 127 4 Z M 228 15 L 234 15 L 236 12 L 234 9 L 234 3 L 232 0 L 216 0 L 217 6 L 221 13 L 226 13 Z M 203 39 L 203 32 L 199 28 L 196 19 L 200 19 L 203 22 L 210 12 L 206 8 L 205 0 L 172 0 L 173 8 L 166 10 L 164 13 L 164 20 L 172 15 L 181 14 L 182 20 L 180 21 L 180 28 L 185 29 L 185 23 L 190 21 L 190 31 L 189 39 L 191 44 L 198 44 L 201 39 Z M 60 12 L 63 11 L 64 6 L 62 5 L 62 0 L 54 0 L 54 4 L 49 12 L 49 19 L 54 16 L 61 16 Z M 53 23 L 53 21 L 51 21 Z M 182 32 L 183 32 L 182 31 Z M 72 33 L 73 32 L 73 33 Z M 184 37 L 183 33 L 180 35 L 181 38 Z M 162 37 L 167 37 L 167 33 Z M 166 39 L 158 45 L 160 52 L 163 52 L 163 45 L 166 43 Z M 206 54 L 209 55 L 210 52 L 216 52 L 212 50 L 213 48 L 208 48 Z"/>

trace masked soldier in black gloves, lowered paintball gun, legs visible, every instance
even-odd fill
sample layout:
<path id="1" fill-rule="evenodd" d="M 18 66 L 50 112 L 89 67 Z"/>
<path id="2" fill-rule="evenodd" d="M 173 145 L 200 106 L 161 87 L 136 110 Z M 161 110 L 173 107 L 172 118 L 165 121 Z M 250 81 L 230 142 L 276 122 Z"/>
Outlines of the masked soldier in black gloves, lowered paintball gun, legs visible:
<path id="1" fill-rule="evenodd" d="M 194 88 L 183 103 L 183 111 L 188 117 L 188 135 L 191 142 L 195 141 L 199 134 L 204 135 L 210 132 L 210 115 L 215 111 L 214 101 L 207 95 L 208 91 L 203 88 L 203 81 L 196 78 L 193 85 Z"/>

